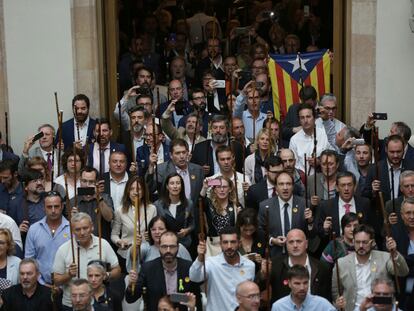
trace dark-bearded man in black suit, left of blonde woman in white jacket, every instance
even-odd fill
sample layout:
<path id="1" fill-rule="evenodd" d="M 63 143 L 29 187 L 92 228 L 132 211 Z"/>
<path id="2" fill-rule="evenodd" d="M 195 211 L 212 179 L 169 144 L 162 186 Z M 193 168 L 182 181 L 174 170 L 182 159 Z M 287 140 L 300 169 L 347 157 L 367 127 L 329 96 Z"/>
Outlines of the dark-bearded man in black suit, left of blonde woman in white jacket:
<path id="1" fill-rule="evenodd" d="M 216 159 L 218 146 L 229 145 L 228 134 L 230 124 L 228 119 L 222 115 L 215 115 L 211 119 L 211 139 L 207 139 L 195 145 L 191 156 L 191 162 L 203 166 L 206 176 L 214 175 L 220 171 Z M 243 147 L 237 141 L 231 142 L 231 148 L 235 155 L 235 169 L 242 172 L 243 168 Z"/>

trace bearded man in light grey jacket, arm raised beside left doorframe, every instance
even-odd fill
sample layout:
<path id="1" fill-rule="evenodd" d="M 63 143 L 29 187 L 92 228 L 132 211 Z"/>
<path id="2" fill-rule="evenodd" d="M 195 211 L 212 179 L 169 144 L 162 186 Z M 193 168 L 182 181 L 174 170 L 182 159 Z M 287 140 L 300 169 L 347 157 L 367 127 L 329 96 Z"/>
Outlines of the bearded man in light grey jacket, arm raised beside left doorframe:
<path id="1" fill-rule="evenodd" d="M 162 94 L 159 94 L 160 98 L 158 100 L 158 92 L 154 92 L 153 90 L 154 79 L 154 73 L 152 72 L 152 70 L 147 67 L 142 67 L 136 73 L 136 85 L 131 87 L 124 94 L 119 103 L 115 105 L 114 117 L 116 120 L 119 120 L 119 105 L 121 106 L 121 122 L 123 130 L 126 131 L 130 128 L 130 119 L 128 113 L 133 107 L 135 107 L 136 105 L 140 105 L 140 95 L 149 96 L 151 99 L 151 104 L 158 102 L 163 103 L 167 101 L 167 98 Z M 151 111 L 156 111 L 156 109 L 157 107 L 152 107 Z"/>

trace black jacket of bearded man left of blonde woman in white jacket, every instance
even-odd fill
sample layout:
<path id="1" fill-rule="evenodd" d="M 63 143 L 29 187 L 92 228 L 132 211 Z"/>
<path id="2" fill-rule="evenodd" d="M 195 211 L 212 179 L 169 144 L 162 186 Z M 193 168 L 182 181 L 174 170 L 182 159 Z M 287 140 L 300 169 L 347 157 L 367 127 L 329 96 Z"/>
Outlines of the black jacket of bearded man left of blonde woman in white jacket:
<path id="1" fill-rule="evenodd" d="M 236 171 L 243 171 L 243 146 L 237 142 L 232 141 L 233 153 L 236 158 Z M 207 176 L 214 174 L 214 162 L 213 162 L 213 148 L 211 147 L 211 139 L 207 139 L 195 145 L 193 155 L 191 156 L 191 162 L 200 166 L 210 166 L 210 172 Z"/>

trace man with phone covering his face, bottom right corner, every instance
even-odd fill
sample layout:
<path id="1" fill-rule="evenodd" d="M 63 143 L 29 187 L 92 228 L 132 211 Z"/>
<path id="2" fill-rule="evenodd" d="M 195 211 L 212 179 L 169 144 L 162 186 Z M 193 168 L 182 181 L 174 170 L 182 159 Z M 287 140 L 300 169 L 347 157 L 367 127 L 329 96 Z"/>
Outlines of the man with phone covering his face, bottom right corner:
<path id="1" fill-rule="evenodd" d="M 376 278 L 371 285 L 372 293 L 354 311 L 398 311 L 395 301 L 394 282 L 387 278 Z M 408 309 L 407 309 L 408 310 Z"/>

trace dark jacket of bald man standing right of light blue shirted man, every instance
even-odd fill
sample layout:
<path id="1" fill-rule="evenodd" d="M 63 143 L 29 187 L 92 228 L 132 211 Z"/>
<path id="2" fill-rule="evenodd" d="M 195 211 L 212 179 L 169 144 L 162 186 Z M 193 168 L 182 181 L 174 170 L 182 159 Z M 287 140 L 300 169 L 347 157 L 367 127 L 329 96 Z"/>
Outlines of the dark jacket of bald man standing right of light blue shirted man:
<path id="1" fill-rule="evenodd" d="M 313 295 L 322 296 L 331 300 L 331 271 L 327 264 L 308 256 L 311 266 L 310 291 Z M 288 257 L 277 256 L 272 258 L 270 284 L 272 284 L 272 303 L 290 294 L 287 283 L 289 270 Z"/>

